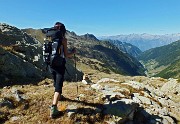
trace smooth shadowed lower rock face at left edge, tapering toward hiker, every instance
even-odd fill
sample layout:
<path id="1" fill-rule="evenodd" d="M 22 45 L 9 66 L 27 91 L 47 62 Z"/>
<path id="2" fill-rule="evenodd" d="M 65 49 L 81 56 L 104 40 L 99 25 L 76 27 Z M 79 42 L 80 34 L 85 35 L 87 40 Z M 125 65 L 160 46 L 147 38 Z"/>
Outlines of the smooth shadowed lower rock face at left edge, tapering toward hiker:
<path id="1" fill-rule="evenodd" d="M 41 79 L 42 71 L 35 68 L 35 65 L 25 61 L 24 59 L 16 56 L 0 47 L 0 77 L 1 85 L 3 82 L 12 81 L 30 81 L 32 79 Z M 24 78 L 24 80 L 22 80 Z M 18 80 L 19 79 L 19 80 Z M 25 80 L 27 79 L 27 80 Z"/>

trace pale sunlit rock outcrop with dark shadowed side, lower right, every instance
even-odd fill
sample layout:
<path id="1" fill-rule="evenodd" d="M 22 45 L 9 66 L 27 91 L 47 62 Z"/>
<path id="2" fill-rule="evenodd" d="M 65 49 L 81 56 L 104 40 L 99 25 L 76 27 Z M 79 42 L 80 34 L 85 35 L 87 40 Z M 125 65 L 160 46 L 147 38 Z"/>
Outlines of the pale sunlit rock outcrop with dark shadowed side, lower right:
<path id="1" fill-rule="evenodd" d="M 128 121 L 138 124 L 175 124 L 180 121 L 180 104 L 173 99 L 179 97 L 179 86 L 172 79 L 164 82 L 162 87 L 154 87 L 150 82 L 120 83 L 107 78 L 91 85 L 99 92 L 98 99 L 106 101 L 104 113 L 115 116 L 112 119 L 114 123 Z M 172 88 L 174 90 L 170 90 Z"/>

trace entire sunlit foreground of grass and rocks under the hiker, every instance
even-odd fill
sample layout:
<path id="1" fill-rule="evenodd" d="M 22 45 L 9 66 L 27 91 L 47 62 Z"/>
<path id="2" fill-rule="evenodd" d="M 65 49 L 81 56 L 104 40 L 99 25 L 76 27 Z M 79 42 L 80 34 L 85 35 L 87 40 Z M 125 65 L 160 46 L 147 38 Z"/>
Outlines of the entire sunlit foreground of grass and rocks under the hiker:
<path id="1" fill-rule="evenodd" d="M 180 122 L 178 89 L 180 84 L 177 80 L 127 76 L 114 78 L 102 78 L 96 80 L 96 83 L 92 81 L 87 84 L 65 82 L 64 97 L 61 97 L 58 105 L 62 116 L 55 120 L 56 123 L 178 124 Z M 84 76 L 84 79 L 86 80 L 87 76 Z M 170 88 L 175 86 L 178 92 L 167 92 L 165 89 L 169 84 Z M 49 118 L 47 112 L 53 93 L 51 79 L 43 80 L 38 85 L 4 87 L 0 90 L 0 122 L 53 123 L 54 120 Z"/>

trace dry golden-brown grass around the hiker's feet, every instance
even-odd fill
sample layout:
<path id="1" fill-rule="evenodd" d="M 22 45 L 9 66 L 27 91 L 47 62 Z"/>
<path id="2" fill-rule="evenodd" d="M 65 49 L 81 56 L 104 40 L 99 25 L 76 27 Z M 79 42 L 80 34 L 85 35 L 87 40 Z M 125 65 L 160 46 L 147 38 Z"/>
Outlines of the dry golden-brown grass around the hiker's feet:
<path id="1" fill-rule="evenodd" d="M 44 83 L 43 83 L 44 82 Z M 2 114 L 0 119 L 5 119 L 8 121 L 5 124 L 10 123 L 19 123 L 19 124 L 53 124 L 53 123 L 61 123 L 61 124 L 74 124 L 75 122 L 82 123 L 100 123 L 103 121 L 103 116 L 100 113 L 95 111 L 95 108 L 100 106 L 101 103 L 99 101 L 94 101 L 94 97 L 98 95 L 98 93 L 93 92 L 92 90 L 87 90 L 89 86 L 80 85 L 78 86 L 78 94 L 84 94 L 84 97 L 80 97 L 80 101 L 76 100 L 77 98 L 77 83 L 64 83 L 63 87 L 63 95 L 65 96 L 65 101 L 60 101 L 58 104 L 59 110 L 64 112 L 64 114 L 57 118 L 51 119 L 49 117 L 50 109 L 49 106 L 52 104 L 52 98 L 54 93 L 54 88 L 52 85 L 52 81 L 45 83 L 46 81 L 40 82 L 38 85 L 26 85 L 26 86 L 14 86 L 18 90 L 24 93 L 28 102 L 28 108 L 24 109 L 24 103 L 21 105 L 18 104 L 16 100 L 13 100 L 15 107 L 13 109 L 3 107 L 0 108 L 0 112 Z M 6 89 L 2 89 L 6 91 Z M 10 89 L 9 89 L 10 90 Z M 10 91 L 9 91 L 10 92 Z M 3 95 L 2 97 L 5 95 Z M 15 103 L 17 102 L 17 103 Z M 102 101 L 101 101 L 102 102 Z M 66 108 L 68 105 L 77 106 L 77 114 L 71 118 L 67 116 Z M 86 111 L 90 111 L 87 113 Z M 8 116 L 7 116 L 7 113 Z M 7 116 L 7 118 L 5 118 Z M 16 121 L 12 121 L 12 117 L 18 117 Z M 1 120 L 0 120 L 1 121 Z"/>

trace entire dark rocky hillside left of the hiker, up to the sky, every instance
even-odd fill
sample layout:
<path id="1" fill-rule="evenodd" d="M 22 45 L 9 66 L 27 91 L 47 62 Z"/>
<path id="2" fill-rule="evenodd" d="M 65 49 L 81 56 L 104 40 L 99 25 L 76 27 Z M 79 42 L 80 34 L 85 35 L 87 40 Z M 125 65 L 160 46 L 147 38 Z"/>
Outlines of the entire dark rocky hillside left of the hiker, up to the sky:
<path id="1" fill-rule="evenodd" d="M 42 79 L 41 43 L 22 30 L 0 24 L 0 55 L 0 85 Z"/>

